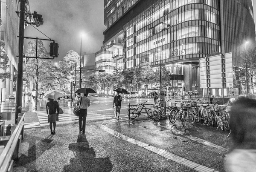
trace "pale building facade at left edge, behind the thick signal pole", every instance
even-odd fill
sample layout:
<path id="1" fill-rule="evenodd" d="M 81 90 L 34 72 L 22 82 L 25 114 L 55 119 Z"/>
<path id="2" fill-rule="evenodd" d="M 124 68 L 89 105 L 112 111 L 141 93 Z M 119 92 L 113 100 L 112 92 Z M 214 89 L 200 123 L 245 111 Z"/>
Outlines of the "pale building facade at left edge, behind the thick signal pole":
<path id="1" fill-rule="evenodd" d="M 18 37 L 19 34 L 19 17 L 15 11 L 19 11 L 18 0 L 0 1 L 0 39 L 5 42 L 4 49 L 9 57 L 9 68 L 6 71 L 0 69 L 0 72 L 10 72 L 11 77 L 0 81 L 0 99 L 5 101 L 8 95 L 13 95 L 15 88 L 15 72 L 17 73 L 17 55 L 18 55 Z"/>

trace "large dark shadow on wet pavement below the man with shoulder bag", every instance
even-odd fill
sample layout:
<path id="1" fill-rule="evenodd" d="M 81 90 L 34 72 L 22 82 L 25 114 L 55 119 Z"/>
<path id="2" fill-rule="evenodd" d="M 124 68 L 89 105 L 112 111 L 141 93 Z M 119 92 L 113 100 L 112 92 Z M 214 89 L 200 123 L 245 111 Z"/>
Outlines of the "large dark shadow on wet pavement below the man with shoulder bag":
<path id="1" fill-rule="evenodd" d="M 96 153 L 84 134 L 79 134 L 77 142 L 71 143 L 69 149 L 73 151 L 75 158 L 70 159 L 70 164 L 64 166 L 63 172 L 110 172 L 113 168 L 109 157 L 96 158 Z"/>

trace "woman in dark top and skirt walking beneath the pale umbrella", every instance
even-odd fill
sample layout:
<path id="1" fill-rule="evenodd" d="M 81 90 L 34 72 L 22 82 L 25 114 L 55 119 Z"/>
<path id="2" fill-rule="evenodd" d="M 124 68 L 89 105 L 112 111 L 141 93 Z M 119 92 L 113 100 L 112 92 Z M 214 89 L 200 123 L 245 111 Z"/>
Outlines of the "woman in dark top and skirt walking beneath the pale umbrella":
<path id="1" fill-rule="evenodd" d="M 58 121 L 58 114 L 60 112 L 60 106 L 57 101 L 48 98 L 49 102 L 46 103 L 46 112 L 48 114 L 48 123 L 50 123 L 51 134 L 55 135 L 56 121 Z M 57 113 L 56 113 L 57 111 Z M 53 123 L 53 131 L 52 131 Z"/>

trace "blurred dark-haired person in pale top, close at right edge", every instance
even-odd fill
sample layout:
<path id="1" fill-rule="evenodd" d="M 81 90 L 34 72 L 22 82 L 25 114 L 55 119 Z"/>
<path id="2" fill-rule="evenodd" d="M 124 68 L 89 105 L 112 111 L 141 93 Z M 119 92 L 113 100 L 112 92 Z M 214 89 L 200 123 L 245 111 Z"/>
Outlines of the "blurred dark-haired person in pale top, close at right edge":
<path id="1" fill-rule="evenodd" d="M 224 159 L 226 172 L 256 172 L 256 100 L 241 97 L 230 110 L 232 151 Z"/>

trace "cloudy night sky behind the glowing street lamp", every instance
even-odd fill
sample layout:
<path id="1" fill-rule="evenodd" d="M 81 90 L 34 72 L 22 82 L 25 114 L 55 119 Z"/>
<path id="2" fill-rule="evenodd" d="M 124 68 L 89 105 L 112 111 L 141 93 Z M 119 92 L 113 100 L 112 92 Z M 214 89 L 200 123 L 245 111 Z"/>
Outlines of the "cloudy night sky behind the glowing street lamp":
<path id="1" fill-rule="evenodd" d="M 63 59 L 69 50 L 80 55 L 80 37 L 82 36 L 82 55 L 100 50 L 104 35 L 104 0 L 29 0 L 30 11 L 42 14 L 44 24 L 35 28 L 59 44 L 59 57 Z M 49 39 L 33 26 L 26 26 L 26 37 Z M 24 40 L 24 53 L 28 41 Z M 50 41 L 44 41 L 49 51 Z"/>

